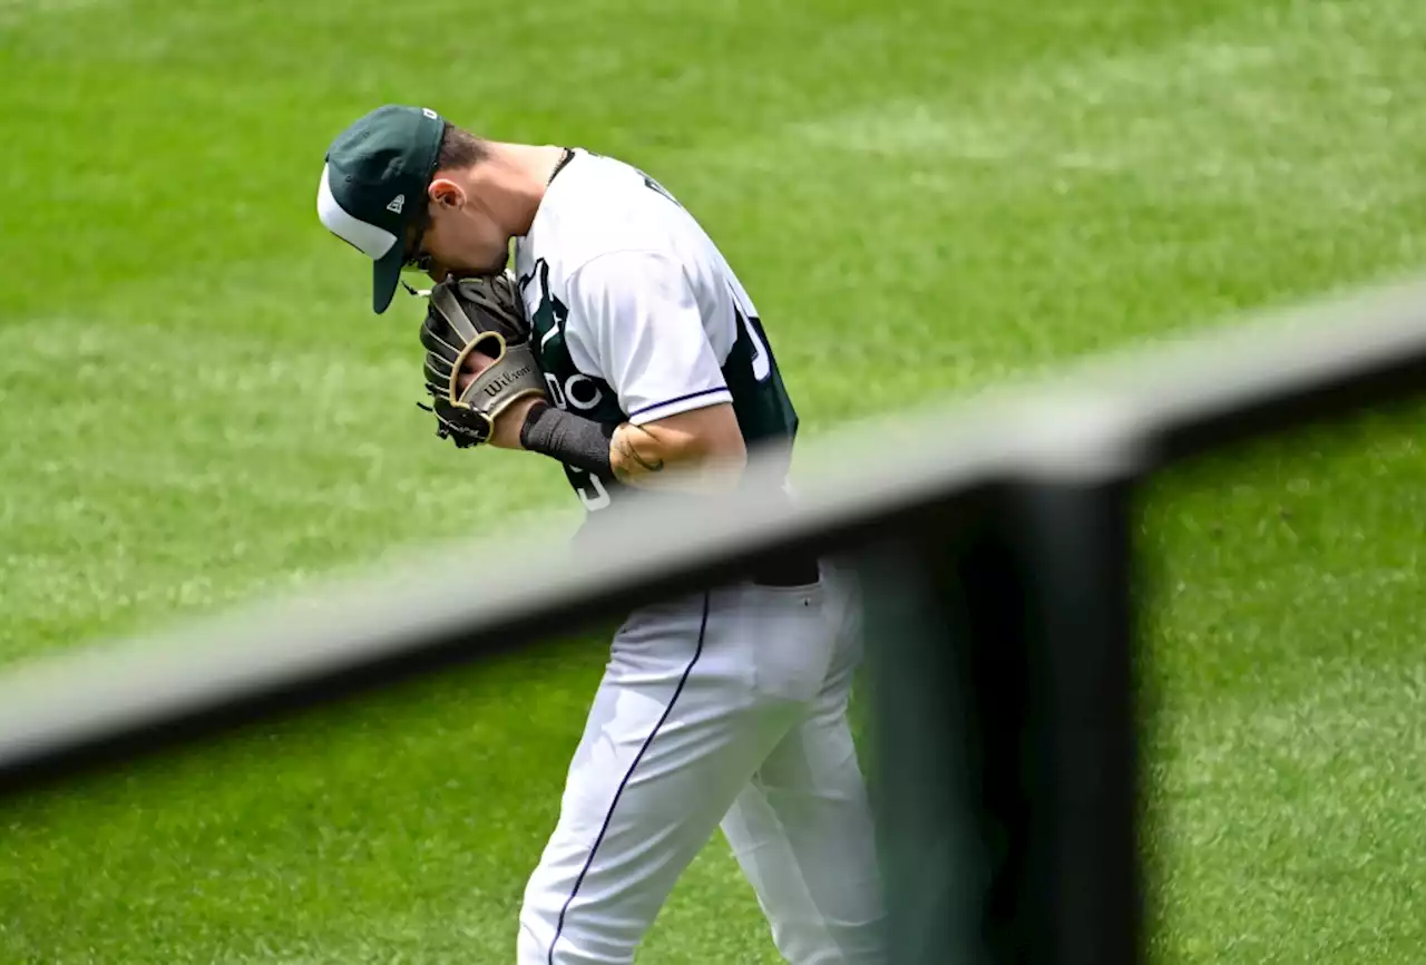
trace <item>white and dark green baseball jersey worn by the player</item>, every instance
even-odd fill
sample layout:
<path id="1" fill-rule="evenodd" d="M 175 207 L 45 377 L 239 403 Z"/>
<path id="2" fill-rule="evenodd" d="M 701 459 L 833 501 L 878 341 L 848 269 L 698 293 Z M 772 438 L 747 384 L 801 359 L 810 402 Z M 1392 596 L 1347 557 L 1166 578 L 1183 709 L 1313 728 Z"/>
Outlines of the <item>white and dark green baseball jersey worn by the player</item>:
<path id="1" fill-rule="evenodd" d="M 790 448 L 797 413 L 752 298 L 653 178 L 575 151 L 516 239 L 515 271 L 556 406 L 642 425 L 726 402 L 749 445 Z M 590 510 L 617 492 L 565 472 Z"/>

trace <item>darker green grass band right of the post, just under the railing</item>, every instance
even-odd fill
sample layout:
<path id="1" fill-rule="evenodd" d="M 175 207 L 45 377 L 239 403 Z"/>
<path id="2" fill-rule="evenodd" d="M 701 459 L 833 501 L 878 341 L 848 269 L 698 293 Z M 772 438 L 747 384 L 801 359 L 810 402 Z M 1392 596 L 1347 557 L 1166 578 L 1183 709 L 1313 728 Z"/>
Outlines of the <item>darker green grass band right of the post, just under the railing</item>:
<path id="1" fill-rule="evenodd" d="M 1276 698 L 1293 693 L 1303 667 L 1415 660 L 1422 415 L 1413 405 L 1303 429 L 1149 487 L 1139 527 L 1147 630 L 1169 694 L 1184 706 Z"/>

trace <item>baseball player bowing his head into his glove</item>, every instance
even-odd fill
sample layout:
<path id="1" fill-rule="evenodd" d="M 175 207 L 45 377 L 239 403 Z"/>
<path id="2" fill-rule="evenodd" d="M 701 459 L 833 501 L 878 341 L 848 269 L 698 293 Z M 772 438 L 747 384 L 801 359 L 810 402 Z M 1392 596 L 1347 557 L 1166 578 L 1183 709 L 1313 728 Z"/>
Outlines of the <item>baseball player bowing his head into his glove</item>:
<path id="1" fill-rule="evenodd" d="M 588 519 L 633 490 L 737 486 L 754 445 L 790 458 L 797 415 L 757 308 L 645 172 L 386 105 L 331 144 L 318 212 L 375 262 L 378 314 L 404 268 L 436 282 L 438 432 L 553 458 Z M 851 600 L 807 557 L 627 617 L 525 889 L 519 965 L 632 962 L 719 827 L 789 962 L 886 961 Z"/>

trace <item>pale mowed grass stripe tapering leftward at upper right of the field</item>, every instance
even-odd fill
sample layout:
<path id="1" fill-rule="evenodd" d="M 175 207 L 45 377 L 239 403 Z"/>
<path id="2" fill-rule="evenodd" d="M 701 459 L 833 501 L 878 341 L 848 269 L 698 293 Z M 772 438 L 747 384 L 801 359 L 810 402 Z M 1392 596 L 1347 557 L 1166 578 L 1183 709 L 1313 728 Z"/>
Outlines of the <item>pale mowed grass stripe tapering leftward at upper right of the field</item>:
<path id="1" fill-rule="evenodd" d="M 1426 157 L 1422 81 L 1409 58 L 1373 37 L 1426 44 L 1426 17 L 1406 3 L 1383 17 L 1380 6 L 1323 3 L 1291 17 L 1268 9 L 1258 29 L 1272 31 L 1271 43 L 1206 29 L 1162 48 L 880 105 L 796 134 L 830 151 L 934 157 L 943 164 L 923 165 L 915 184 L 957 201 L 1062 195 L 1112 180 L 1175 207 L 1251 198 L 1262 215 L 1333 224 L 1419 202 L 1426 191 L 1405 167 Z M 994 168 L 991 198 L 965 178 L 964 167 L 980 165 Z"/>

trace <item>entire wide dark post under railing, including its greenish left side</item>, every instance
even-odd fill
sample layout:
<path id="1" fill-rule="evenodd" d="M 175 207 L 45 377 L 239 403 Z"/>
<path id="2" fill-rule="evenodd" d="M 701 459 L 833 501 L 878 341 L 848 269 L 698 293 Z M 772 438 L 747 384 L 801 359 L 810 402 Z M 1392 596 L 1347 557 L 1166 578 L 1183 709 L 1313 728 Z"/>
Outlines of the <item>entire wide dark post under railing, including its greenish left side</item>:
<path id="1" fill-rule="evenodd" d="M 1128 479 L 861 557 L 897 965 L 1142 961 Z"/>

